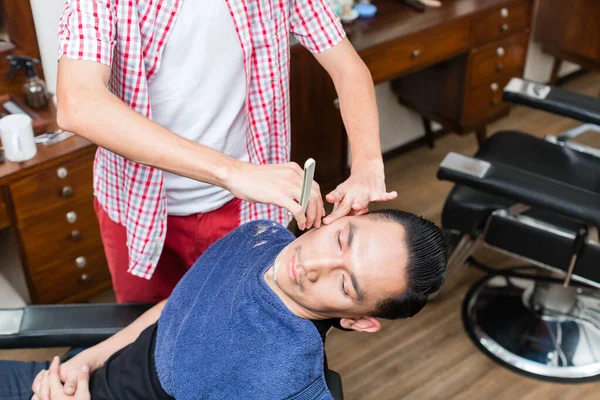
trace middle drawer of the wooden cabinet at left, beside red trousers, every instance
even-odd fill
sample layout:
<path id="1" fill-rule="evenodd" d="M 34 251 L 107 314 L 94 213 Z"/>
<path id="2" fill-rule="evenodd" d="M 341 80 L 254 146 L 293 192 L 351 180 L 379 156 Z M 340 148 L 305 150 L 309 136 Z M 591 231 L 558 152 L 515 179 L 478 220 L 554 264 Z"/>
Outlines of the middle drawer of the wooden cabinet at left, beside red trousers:
<path id="1" fill-rule="evenodd" d="M 56 209 L 33 218 L 20 227 L 21 240 L 32 273 L 47 268 L 54 260 L 83 256 L 90 248 L 102 247 L 100 228 L 91 201 Z"/>

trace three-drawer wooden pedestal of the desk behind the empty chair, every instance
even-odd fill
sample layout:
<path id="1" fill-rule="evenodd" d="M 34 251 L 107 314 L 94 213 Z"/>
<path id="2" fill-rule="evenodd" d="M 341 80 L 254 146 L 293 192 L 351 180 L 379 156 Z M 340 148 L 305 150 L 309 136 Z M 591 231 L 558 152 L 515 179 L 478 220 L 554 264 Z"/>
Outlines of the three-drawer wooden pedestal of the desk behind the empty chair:
<path id="1" fill-rule="evenodd" d="M 523 75 L 533 4 L 496 3 L 472 15 L 467 52 L 392 83 L 398 100 L 423 115 L 426 124 L 435 120 L 452 132 L 469 133 L 509 112 L 502 90 L 512 77 Z"/>

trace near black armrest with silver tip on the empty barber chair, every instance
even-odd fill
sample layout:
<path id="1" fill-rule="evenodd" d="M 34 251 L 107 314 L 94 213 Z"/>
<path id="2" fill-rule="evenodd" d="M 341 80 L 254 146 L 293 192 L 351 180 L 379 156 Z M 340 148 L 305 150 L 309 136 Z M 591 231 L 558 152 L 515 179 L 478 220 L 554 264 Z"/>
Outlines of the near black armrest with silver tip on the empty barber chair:
<path id="1" fill-rule="evenodd" d="M 600 194 L 526 170 L 448 153 L 437 177 L 600 227 Z"/>

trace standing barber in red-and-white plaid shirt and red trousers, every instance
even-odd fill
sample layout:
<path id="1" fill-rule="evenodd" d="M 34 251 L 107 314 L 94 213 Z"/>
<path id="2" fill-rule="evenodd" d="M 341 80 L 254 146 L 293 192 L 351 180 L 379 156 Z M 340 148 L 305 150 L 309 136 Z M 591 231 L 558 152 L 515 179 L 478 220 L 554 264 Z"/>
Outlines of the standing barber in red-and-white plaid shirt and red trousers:
<path id="1" fill-rule="evenodd" d="M 331 76 L 350 141 L 328 216 L 317 184 L 306 215 L 297 203 L 290 33 Z M 371 75 L 328 0 L 65 0 L 57 100 L 59 125 L 99 146 L 95 209 L 119 302 L 168 297 L 241 223 L 285 225 L 290 211 L 308 229 L 396 197 Z"/>

